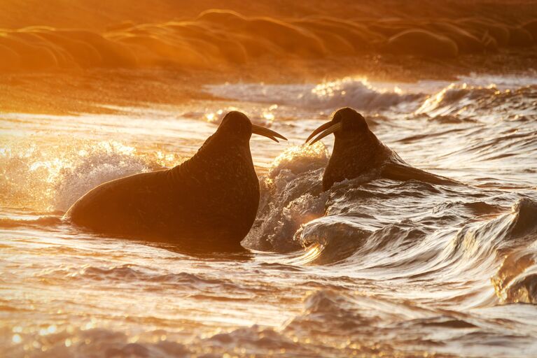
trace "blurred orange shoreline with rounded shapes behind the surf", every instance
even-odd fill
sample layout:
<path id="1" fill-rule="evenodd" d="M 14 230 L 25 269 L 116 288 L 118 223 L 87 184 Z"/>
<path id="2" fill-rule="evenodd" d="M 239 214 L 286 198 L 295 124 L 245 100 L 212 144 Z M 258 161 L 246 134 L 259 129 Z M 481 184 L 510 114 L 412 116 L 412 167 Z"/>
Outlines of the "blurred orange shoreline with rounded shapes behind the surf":
<path id="1" fill-rule="evenodd" d="M 2 112 L 178 104 L 225 82 L 535 76 L 537 63 L 534 1 L 3 3 Z"/>

